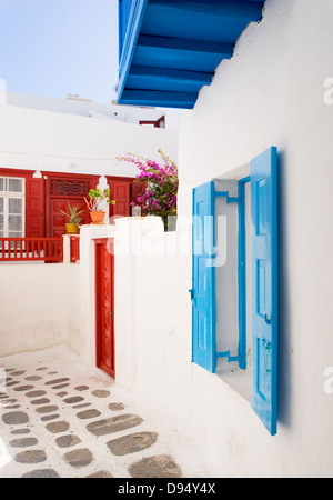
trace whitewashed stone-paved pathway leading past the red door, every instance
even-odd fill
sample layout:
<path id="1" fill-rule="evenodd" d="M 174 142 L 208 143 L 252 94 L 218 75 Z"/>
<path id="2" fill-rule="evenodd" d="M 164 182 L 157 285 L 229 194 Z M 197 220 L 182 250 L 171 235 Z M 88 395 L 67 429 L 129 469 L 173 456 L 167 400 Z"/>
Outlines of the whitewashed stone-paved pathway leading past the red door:
<path id="1" fill-rule="evenodd" d="M 0 358 L 0 478 L 185 477 L 171 454 L 176 429 L 170 439 L 134 407 L 67 348 Z"/>

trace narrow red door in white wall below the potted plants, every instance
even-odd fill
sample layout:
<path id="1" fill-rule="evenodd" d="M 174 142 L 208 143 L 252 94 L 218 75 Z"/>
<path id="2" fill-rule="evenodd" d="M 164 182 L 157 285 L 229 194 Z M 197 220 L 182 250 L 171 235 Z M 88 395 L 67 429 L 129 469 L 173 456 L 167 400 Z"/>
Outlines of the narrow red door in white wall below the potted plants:
<path id="1" fill-rule="evenodd" d="M 114 378 L 113 240 L 95 240 L 95 362 Z"/>

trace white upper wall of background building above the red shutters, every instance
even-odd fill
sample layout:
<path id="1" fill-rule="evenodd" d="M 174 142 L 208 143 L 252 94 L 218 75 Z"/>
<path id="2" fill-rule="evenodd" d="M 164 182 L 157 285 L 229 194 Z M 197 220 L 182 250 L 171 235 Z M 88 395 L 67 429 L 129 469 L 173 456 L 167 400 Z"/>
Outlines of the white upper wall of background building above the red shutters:
<path id="1" fill-rule="evenodd" d="M 144 113 L 143 113 L 144 114 Z M 178 161 L 175 129 L 157 129 L 99 114 L 90 118 L 3 104 L 0 108 L 0 168 L 135 177 L 137 167 L 117 156 Z"/>

